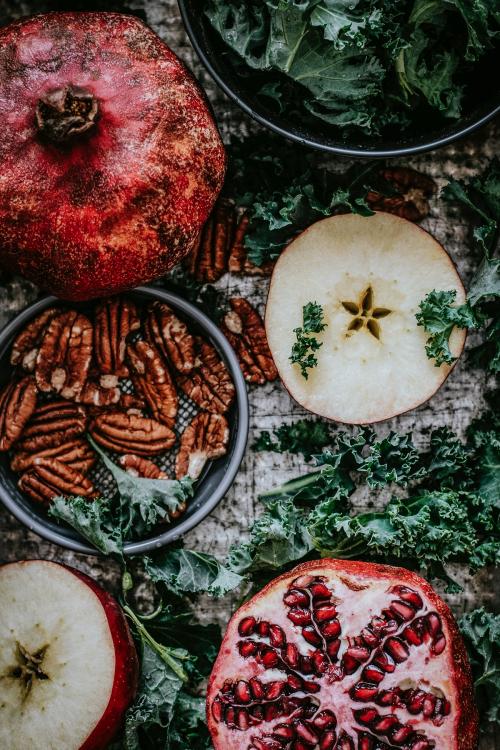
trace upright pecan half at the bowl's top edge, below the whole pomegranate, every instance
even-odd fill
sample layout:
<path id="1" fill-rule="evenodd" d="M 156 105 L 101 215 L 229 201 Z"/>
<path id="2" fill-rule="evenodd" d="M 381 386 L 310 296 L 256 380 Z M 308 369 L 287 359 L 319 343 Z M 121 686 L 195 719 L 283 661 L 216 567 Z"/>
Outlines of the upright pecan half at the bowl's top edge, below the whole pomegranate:
<path id="1" fill-rule="evenodd" d="M 140 328 L 133 302 L 122 297 L 100 302 L 95 311 L 94 353 L 99 372 L 104 375 L 128 376 L 125 363 L 127 338 Z"/>

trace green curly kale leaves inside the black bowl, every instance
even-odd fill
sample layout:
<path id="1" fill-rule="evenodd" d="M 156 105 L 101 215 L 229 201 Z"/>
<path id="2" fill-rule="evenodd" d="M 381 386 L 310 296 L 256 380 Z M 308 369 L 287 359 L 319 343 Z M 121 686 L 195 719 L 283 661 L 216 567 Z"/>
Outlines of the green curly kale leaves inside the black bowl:
<path id="1" fill-rule="evenodd" d="M 269 106 L 369 135 L 415 109 L 460 117 L 500 31 L 496 0 L 209 0 L 205 14 Z"/>

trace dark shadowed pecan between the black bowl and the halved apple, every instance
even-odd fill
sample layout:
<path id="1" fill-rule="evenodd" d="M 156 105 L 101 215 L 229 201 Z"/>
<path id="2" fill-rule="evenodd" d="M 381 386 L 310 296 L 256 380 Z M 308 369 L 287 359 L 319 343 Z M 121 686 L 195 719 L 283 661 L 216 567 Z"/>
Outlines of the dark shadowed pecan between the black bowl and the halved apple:
<path id="1" fill-rule="evenodd" d="M 374 211 L 387 211 L 408 221 L 421 221 L 430 211 L 429 198 L 437 190 L 431 177 L 409 167 L 383 169 L 380 176 L 397 191 L 397 195 L 383 195 L 370 191 L 366 200 Z"/>

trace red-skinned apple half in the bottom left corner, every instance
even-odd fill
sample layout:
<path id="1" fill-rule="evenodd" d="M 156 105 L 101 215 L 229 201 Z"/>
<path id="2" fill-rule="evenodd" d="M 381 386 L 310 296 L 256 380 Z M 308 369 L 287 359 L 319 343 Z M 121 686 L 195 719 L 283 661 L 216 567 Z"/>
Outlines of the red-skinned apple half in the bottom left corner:
<path id="1" fill-rule="evenodd" d="M 138 660 L 117 602 L 46 560 L 0 567 L 0 747 L 100 750 L 119 730 Z"/>

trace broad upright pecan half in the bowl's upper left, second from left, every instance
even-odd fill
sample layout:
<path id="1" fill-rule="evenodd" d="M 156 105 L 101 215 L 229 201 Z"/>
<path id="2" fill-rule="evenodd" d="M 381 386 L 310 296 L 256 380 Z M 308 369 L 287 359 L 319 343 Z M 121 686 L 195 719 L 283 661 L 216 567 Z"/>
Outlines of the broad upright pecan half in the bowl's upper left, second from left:
<path id="1" fill-rule="evenodd" d="M 35 377 L 43 392 L 63 398 L 80 396 L 92 357 L 92 323 L 68 310 L 56 315 L 45 330 L 36 359 Z"/>

